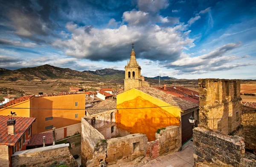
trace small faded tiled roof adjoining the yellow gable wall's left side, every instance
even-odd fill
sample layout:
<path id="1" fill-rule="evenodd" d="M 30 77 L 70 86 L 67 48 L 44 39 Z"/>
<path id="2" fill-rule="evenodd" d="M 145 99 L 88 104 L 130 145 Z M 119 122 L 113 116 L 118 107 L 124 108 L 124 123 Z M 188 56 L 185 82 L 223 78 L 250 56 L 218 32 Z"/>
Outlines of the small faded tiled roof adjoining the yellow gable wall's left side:
<path id="1" fill-rule="evenodd" d="M 105 100 L 96 105 L 93 105 L 91 108 L 85 110 L 88 114 L 93 115 L 97 113 L 102 113 L 105 111 L 116 109 L 116 101 L 115 100 Z"/>

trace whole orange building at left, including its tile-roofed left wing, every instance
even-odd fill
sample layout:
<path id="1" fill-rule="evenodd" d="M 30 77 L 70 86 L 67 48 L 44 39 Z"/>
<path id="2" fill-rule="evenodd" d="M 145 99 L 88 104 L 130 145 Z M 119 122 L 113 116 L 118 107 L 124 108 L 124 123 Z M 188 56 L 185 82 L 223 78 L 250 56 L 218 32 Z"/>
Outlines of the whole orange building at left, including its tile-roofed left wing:
<path id="1" fill-rule="evenodd" d="M 52 96 L 23 96 L 0 106 L 0 115 L 37 118 L 32 133 L 42 133 L 81 122 L 85 115 L 85 95 L 61 94 Z"/>

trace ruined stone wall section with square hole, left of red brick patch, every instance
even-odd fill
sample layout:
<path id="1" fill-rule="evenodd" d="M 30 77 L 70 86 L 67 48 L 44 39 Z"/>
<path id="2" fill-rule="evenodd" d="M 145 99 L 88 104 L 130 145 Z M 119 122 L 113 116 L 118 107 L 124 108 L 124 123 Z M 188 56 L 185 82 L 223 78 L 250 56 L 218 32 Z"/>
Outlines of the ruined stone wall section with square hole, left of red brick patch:
<path id="1" fill-rule="evenodd" d="M 148 138 L 144 134 L 136 133 L 107 141 L 107 159 L 110 164 L 122 164 L 135 158 L 145 156 Z"/>

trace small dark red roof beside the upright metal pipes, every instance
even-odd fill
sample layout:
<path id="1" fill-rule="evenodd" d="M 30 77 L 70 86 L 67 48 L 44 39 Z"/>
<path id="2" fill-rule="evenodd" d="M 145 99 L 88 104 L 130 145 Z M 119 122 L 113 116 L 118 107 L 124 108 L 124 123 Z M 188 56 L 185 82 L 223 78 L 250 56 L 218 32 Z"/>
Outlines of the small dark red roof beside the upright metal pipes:
<path id="1" fill-rule="evenodd" d="M 52 145 L 52 133 L 38 133 L 32 135 L 27 146 L 44 145 L 43 136 L 45 136 L 45 145 Z"/>

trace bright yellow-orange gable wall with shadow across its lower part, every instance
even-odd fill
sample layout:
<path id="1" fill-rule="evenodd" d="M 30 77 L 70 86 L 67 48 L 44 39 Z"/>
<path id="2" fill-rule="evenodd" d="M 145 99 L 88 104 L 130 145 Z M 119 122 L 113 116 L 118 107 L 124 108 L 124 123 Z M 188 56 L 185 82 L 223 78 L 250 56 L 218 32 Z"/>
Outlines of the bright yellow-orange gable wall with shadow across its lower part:
<path id="1" fill-rule="evenodd" d="M 137 89 L 130 89 L 117 95 L 117 127 L 131 133 L 143 133 L 148 141 L 155 140 L 155 133 L 161 127 L 180 126 L 180 109 L 174 106 L 165 108 L 145 108 L 168 106 L 169 104 L 149 96 Z M 122 109 L 141 108 L 141 109 Z"/>

